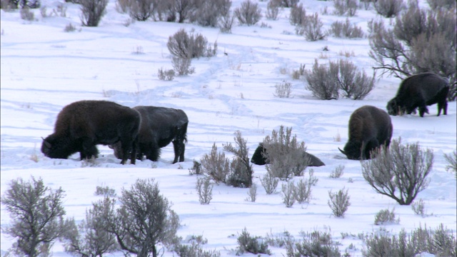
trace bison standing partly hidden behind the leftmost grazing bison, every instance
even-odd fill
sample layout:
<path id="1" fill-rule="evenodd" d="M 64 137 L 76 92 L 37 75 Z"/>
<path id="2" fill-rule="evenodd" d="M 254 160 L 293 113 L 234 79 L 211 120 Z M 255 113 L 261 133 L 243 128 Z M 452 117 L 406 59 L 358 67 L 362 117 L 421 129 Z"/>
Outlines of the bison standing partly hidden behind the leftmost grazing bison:
<path id="1" fill-rule="evenodd" d="M 173 142 L 173 163 L 184 161 L 187 124 L 189 124 L 184 111 L 156 106 L 136 106 L 133 109 L 141 114 L 139 151 L 136 157 L 141 160 L 145 155 L 149 160 L 157 161 L 160 156 L 160 148 Z M 110 147 L 114 149 L 114 155 L 117 158 L 122 158 L 123 155 L 119 151 L 121 143 Z"/>

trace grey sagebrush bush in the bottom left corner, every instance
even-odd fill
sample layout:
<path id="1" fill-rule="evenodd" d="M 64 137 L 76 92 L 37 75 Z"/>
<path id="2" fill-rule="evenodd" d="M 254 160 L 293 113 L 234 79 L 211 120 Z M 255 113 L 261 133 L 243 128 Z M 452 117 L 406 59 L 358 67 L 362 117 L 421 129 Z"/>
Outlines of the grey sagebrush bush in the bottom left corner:
<path id="1" fill-rule="evenodd" d="M 51 245 L 71 228 L 64 221 L 65 191 L 51 190 L 41 178 L 31 181 L 13 179 L 1 196 L 1 204 L 11 217 L 9 226 L 2 231 L 16 240 L 11 250 L 18 256 L 49 256 Z"/>

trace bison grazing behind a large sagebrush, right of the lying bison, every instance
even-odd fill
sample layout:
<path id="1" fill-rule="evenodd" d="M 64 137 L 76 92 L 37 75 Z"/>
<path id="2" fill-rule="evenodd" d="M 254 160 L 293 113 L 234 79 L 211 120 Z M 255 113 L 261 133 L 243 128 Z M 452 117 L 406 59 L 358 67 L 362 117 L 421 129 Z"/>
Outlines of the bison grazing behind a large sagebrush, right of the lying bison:
<path id="1" fill-rule="evenodd" d="M 341 150 L 351 160 L 371 158 L 371 151 L 388 146 L 392 138 L 391 116 L 374 106 L 362 106 L 349 119 L 348 143 Z"/>

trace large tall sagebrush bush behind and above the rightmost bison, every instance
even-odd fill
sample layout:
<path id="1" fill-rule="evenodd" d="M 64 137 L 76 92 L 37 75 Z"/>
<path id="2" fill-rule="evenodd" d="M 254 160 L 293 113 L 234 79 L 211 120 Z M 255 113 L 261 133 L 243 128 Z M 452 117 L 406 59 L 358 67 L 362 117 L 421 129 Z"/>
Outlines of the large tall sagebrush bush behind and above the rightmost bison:
<path id="1" fill-rule="evenodd" d="M 400 79 L 433 72 L 447 77 L 452 85 L 457 66 L 455 13 L 455 9 L 425 11 L 410 1 L 392 29 L 386 29 L 383 21 L 369 22 L 369 56 L 376 62 L 373 69 Z M 449 100 L 453 100 L 451 95 Z"/>

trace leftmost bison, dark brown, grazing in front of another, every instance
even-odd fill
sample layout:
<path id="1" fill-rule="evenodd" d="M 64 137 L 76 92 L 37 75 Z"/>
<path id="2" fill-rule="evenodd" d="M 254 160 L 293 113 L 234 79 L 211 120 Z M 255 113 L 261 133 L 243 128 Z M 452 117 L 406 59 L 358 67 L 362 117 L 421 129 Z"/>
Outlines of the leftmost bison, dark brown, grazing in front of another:
<path id="1" fill-rule="evenodd" d="M 122 143 L 125 164 L 131 152 L 135 164 L 141 123 L 138 111 L 110 101 L 76 101 L 57 116 L 54 133 L 43 139 L 41 152 L 49 158 L 68 158 L 79 152 L 81 160 L 98 157 L 97 144 Z"/>

